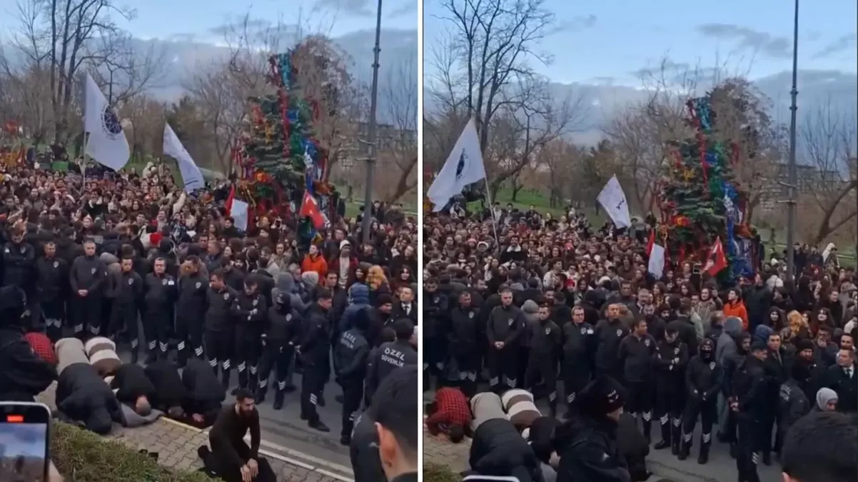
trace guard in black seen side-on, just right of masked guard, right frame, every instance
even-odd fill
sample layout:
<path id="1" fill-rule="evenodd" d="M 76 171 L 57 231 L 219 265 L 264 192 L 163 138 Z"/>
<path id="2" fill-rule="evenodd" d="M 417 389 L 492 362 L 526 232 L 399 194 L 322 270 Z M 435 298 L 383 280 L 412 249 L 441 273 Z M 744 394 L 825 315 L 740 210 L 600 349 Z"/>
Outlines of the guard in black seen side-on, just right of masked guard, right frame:
<path id="1" fill-rule="evenodd" d="M 738 422 L 736 468 L 739 471 L 739 479 L 745 482 L 759 482 L 757 464 L 763 415 L 766 410 L 776 409 L 766 403 L 763 369 L 766 354 L 765 341 L 755 341 L 751 352 L 736 367 L 733 375 L 733 394 L 729 403 Z"/>

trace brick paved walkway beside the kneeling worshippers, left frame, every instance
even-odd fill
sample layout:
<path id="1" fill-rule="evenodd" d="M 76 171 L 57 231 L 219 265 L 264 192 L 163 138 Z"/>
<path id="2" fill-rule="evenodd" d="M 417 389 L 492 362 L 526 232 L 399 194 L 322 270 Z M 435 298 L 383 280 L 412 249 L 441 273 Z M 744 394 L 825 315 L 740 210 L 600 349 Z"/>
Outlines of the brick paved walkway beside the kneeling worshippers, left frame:
<path id="1" fill-rule="evenodd" d="M 45 403 L 51 409 L 56 408 L 55 392 L 57 383 L 39 395 L 37 401 Z M 200 445 L 208 444 L 208 435 L 191 427 L 178 425 L 166 419 L 156 420 L 153 424 L 127 429 L 113 425 L 113 431 L 107 438 L 123 443 L 132 450 L 146 449 L 157 452 L 158 462 L 164 467 L 193 471 L 202 467 L 202 461 L 196 456 Z M 278 481 L 287 482 L 340 482 L 338 479 L 319 473 L 311 467 L 266 457 L 277 474 Z"/>

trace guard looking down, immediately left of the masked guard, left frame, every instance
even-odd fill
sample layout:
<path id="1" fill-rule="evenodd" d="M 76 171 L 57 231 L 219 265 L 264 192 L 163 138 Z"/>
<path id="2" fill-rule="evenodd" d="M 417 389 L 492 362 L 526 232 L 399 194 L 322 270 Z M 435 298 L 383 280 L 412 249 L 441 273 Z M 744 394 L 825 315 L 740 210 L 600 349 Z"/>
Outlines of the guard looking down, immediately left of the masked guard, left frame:
<path id="1" fill-rule="evenodd" d="M 268 320 L 268 306 L 257 290 L 257 276 L 251 274 L 245 278 L 245 290 L 239 293 L 238 303 L 233 304 L 236 342 L 233 363 L 239 371 L 239 389 L 257 388 L 260 340 Z"/>

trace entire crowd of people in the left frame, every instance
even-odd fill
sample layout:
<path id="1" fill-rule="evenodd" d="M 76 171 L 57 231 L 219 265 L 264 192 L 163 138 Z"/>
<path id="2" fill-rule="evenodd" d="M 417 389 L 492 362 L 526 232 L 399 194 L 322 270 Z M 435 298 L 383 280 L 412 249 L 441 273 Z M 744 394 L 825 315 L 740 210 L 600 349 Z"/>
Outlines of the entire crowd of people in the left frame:
<path id="1" fill-rule="evenodd" d="M 349 445 L 385 378 L 417 364 L 417 232 L 401 206 L 376 202 L 364 243 L 360 219 L 306 237 L 294 205 L 243 229 L 233 181 L 186 193 L 164 164 L 2 175 L 2 401 L 57 381 L 57 416 L 106 433 L 152 413 L 217 426 L 230 388 L 245 412 L 299 389 L 301 419 L 329 431 L 317 407 L 335 381 Z M 227 472 L 259 473 L 241 467 Z"/>

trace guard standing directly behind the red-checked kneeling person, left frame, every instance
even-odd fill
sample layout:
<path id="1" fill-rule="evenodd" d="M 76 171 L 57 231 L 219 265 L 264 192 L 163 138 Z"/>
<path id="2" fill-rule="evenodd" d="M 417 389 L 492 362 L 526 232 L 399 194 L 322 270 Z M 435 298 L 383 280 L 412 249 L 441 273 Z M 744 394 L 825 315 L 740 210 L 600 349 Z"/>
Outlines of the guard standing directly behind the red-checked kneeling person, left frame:
<path id="1" fill-rule="evenodd" d="M 35 286 L 39 311 L 45 319 L 45 334 L 56 342 L 63 338 L 65 300 L 69 293 L 69 263 L 57 257 L 57 244 L 52 241 L 45 243 L 45 256 L 36 259 Z"/>

